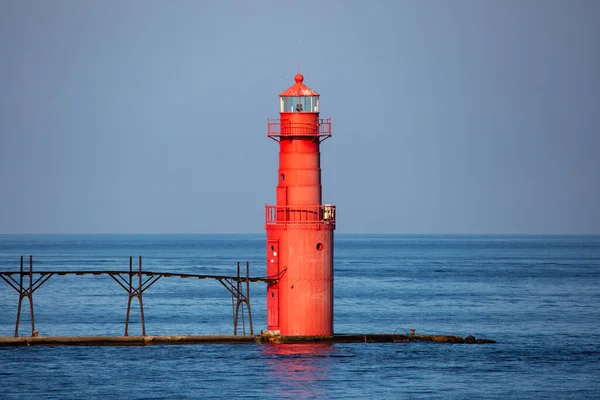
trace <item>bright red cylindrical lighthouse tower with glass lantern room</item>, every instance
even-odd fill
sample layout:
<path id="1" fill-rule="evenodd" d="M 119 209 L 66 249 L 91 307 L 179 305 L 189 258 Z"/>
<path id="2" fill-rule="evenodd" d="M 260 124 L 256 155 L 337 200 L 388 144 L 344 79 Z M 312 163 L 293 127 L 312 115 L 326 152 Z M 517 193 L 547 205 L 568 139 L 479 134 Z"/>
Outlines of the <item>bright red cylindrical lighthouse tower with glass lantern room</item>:
<path id="1" fill-rule="evenodd" d="M 279 95 L 268 136 L 279 143 L 277 204 L 266 206 L 267 326 L 282 336 L 333 335 L 335 206 L 322 204 L 321 142 L 331 118 L 320 119 L 319 94 L 296 83 Z"/>

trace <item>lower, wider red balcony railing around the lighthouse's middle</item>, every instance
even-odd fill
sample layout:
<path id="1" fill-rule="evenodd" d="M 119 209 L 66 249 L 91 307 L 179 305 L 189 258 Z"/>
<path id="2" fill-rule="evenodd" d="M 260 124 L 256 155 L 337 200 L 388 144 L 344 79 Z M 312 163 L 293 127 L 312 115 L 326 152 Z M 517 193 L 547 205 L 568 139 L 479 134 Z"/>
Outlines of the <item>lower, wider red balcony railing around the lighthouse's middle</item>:
<path id="1" fill-rule="evenodd" d="M 335 228 L 335 206 L 266 206 L 266 225 L 328 225 Z"/>

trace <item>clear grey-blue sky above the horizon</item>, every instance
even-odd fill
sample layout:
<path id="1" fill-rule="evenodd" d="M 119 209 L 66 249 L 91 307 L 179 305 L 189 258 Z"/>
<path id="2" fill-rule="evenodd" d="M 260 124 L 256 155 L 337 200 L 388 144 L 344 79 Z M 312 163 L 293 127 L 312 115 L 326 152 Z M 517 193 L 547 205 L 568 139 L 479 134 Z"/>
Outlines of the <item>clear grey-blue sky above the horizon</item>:
<path id="1" fill-rule="evenodd" d="M 263 232 L 294 83 L 341 233 L 600 233 L 600 1 L 0 0 L 0 233 Z"/>

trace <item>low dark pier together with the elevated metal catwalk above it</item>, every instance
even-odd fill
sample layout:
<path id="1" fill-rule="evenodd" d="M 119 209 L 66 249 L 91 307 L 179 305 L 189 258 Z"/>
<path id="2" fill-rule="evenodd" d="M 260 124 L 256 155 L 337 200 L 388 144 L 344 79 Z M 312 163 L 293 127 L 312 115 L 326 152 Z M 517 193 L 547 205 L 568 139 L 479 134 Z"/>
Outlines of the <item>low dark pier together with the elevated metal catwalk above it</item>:
<path id="1" fill-rule="evenodd" d="M 27 262 L 28 261 L 28 262 Z M 284 272 L 285 273 L 285 272 Z M 33 295 L 45 282 L 52 277 L 67 275 L 75 276 L 102 276 L 108 275 L 127 293 L 127 311 L 125 318 L 125 331 L 122 336 L 40 336 L 35 328 L 35 314 Z M 161 278 L 183 279 L 211 279 L 225 287 L 232 298 L 232 335 L 146 335 L 144 320 L 143 293 Z M 18 294 L 18 308 L 15 322 L 14 336 L 0 337 L 0 347 L 18 346 L 149 346 L 149 345 L 200 345 L 200 344 L 331 344 L 331 343 L 453 343 L 453 344 L 489 344 L 495 343 L 490 339 L 475 338 L 473 336 L 461 337 L 454 335 L 418 334 L 414 329 L 410 333 L 391 334 L 381 333 L 347 333 L 326 336 L 281 336 L 277 332 L 262 331 L 255 335 L 252 323 L 250 303 L 250 282 L 272 283 L 277 282 L 281 276 L 251 277 L 249 263 L 238 262 L 236 274 L 203 275 L 178 272 L 147 271 L 143 269 L 142 257 L 137 258 L 134 268 L 134 258 L 129 257 L 129 268 L 126 270 L 62 270 L 44 269 L 34 270 L 33 257 L 28 260 L 21 256 L 18 271 L 0 271 L 0 279 L 6 282 Z M 73 290 L 85 290 L 84 285 L 77 285 Z M 129 317 L 131 303 L 137 299 L 140 306 L 141 335 L 129 335 Z M 19 325 L 22 314 L 22 305 L 29 304 L 31 320 L 31 335 L 20 336 Z M 247 320 L 247 324 L 246 324 Z M 248 333 L 246 331 L 248 328 Z"/>

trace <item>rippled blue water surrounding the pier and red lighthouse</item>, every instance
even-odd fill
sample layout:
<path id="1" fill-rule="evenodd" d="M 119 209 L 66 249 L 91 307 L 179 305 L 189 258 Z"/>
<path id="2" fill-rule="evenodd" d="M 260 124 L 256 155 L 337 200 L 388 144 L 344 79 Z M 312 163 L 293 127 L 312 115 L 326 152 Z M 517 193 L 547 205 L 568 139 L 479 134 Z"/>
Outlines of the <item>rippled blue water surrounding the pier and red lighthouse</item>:
<path id="1" fill-rule="evenodd" d="M 148 270 L 233 275 L 249 261 L 264 276 L 264 248 L 263 235 L 0 235 L 0 270 L 29 254 L 38 270 L 125 270 L 142 255 Z M 498 343 L 0 348 L 0 398 L 600 398 L 599 284 L 600 236 L 338 235 L 337 333 Z M 264 293 L 251 285 L 255 330 Z M 54 276 L 34 301 L 42 336 L 123 333 L 127 295 L 110 277 Z M 0 281 L 0 336 L 16 305 Z M 144 306 L 150 335 L 232 332 L 215 281 L 163 278 Z"/>

